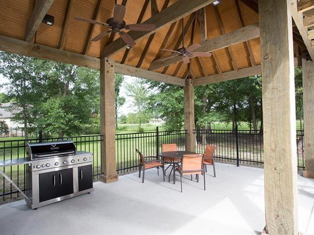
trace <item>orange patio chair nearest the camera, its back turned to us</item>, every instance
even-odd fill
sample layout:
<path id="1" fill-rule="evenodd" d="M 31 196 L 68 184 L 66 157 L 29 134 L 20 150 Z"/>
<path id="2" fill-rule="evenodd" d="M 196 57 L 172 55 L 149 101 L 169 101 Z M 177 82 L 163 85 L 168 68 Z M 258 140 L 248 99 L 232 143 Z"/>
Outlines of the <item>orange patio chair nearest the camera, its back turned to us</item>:
<path id="1" fill-rule="evenodd" d="M 180 183 L 182 192 L 182 176 L 196 174 L 196 180 L 199 182 L 199 174 L 204 176 L 204 190 L 205 186 L 205 170 L 204 170 L 204 154 L 186 154 L 183 155 L 181 166 L 179 166 L 178 171 L 180 173 Z"/>

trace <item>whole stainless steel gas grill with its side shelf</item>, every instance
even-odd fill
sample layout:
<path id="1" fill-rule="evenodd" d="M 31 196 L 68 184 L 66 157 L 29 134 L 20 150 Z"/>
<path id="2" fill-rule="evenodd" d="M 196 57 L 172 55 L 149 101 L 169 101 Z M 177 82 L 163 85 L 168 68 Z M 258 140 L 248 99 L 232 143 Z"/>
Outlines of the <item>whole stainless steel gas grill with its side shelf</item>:
<path id="1" fill-rule="evenodd" d="M 93 191 L 92 153 L 76 151 L 73 141 L 26 143 L 27 157 L 0 161 L 0 167 L 26 164 L 26 193 L 31 209 Z"/>

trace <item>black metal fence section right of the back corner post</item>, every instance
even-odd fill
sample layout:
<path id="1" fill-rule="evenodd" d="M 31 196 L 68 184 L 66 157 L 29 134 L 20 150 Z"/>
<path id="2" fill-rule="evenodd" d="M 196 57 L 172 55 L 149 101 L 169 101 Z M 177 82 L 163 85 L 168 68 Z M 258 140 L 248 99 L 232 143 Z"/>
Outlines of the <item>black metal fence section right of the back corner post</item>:
<path id="1" fill-rule="evenodd" d="M 204 153 L 206 145 L 216 146 L 214 159 L 232 164 L 264 164 L 263 133 L 252 130 L 194 130 L 195 151 Z M 297 131 L 298 170 L 304 169 L 303 131 Z"/>

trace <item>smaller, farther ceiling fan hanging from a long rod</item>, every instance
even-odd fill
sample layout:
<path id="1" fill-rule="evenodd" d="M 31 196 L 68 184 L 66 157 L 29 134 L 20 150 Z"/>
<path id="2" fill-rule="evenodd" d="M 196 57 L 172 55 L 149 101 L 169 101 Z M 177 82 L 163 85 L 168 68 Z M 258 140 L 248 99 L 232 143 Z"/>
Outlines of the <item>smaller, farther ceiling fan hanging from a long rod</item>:
<path id="1" fill-rule="evenodd" d="M 193 45 L 191 45 L 189 47 L 184 47 L 184 29 L 183 29 L 183 18 L 182 18 L 182 47 L 179 48 L 178 50 L 161 49 L 161 50 L 172 51 L 174 53 L 172 53 L 170 55 L 167 55 L 165 57 L 162 57 L 162 58 L 158 59 L 158 61 L 165 61 L 165 60 L 169 60 L 171 58 L 174 58 L 176 56 L 182 56 L 183 63 L 184 64 L 188 64 L 188 63 L 190 63 L 190 58 L 188 57 L 189 55 L 200 56 L 200 57 L 209 57 L 209 56 L 211 56 L 210 52 L 193 52 L 198 47 L 201 47 L 201 45 L 193 44 Z"/>

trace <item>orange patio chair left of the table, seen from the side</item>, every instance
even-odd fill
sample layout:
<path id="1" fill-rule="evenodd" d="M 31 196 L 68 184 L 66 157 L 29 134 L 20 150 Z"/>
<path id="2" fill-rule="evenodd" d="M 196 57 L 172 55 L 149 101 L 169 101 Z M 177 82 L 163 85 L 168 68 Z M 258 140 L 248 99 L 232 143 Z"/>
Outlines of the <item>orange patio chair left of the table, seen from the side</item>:
<path id="1" fill-rule="evenodd" d="M 138 150 L 135 149 L 136 152 L 139 155 L 139 172 L 138 172 L 138 177 L 141 178 L 141 168 L 143 168 L 143 179 L 142 179 L 142 183 L 144 183 L 144 178 L 145 178 L 145 170 L 147 169 L 152 169 L 157 167 L 157 175 L 159 175 L 159 167 L 162 167 L 162 176 L 163 176 L 163 181 L 165 181 L 165 165 L 164 162 L 162 160 L 157 159 L 156 156 L 147 156 L 144 157 L 144 155 Z M 152 159 L 153 160 L 146 160 L 146 159 Z"/>

